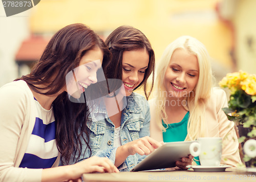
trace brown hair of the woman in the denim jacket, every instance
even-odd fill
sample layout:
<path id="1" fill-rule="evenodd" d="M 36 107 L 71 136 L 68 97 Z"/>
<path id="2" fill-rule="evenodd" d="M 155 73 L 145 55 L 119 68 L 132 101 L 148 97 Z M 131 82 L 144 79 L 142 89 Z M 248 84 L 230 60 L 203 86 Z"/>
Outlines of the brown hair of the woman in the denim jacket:
<path id="1" fill-rule="evenodd" d="M 150 60 L 148 62 L 148 67 L 145 71 L 144 78 L 142 82 L 135 88 L 144 86 L 144 93 L 146 99 L 151 94 L 154 85 L 154 75 L 155 75 L 155 53 L 151 47 L 150 41 L 146 36 L 138 29 L 131 26 L 120 26 L 115 29 L 105 40 L 106 46 L 112 53 L 112 60 L 108 65 L 106 70 L 107 78 L 115 78 L 122 80 L 122 56 L 124 51 L 132 51 L 140 48 L 145 48 L 150 55 Z M 152 85 L 150 91 L 146 91 L 146 81 L 147 78 L 153 72 Z"/>

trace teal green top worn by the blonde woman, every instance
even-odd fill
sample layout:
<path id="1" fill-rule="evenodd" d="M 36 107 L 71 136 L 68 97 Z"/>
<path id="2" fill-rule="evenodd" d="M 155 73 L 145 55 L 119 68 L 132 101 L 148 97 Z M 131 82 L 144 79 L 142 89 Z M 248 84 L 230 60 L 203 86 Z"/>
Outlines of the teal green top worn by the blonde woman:
<path id="1" fill-rule="evenodd" d="M 189 118 L 189 111 L 179 123 L 171 123 L 167 125 L 162 120 L 162 125 L 166 128 L 163 132 L 163 142 L 181 142 L 184 141 L 187 136 L 187 121 Z M 194 161 L 197 165 L 200 165 L 199 157 L 194 157 Z"/>

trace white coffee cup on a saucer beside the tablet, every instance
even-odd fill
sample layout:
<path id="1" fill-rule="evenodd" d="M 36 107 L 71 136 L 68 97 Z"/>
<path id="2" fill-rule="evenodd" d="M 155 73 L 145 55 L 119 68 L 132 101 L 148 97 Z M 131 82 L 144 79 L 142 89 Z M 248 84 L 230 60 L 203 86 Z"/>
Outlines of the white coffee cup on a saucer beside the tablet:
<path id="1" fill-rule="evenodd" d="M 199 156 L 201 166 L 219 166 L 222 154 L 222 138 L 198 138 L 190 145 L 193 156 Z"/>

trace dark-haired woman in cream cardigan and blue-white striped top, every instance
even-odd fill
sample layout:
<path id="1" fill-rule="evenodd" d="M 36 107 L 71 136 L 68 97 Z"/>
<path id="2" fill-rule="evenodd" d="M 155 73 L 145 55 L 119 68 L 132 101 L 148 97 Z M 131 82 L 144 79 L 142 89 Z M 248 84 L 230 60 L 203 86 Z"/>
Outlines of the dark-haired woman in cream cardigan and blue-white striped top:
<path id="1" fill-rule="evenodd" d="M 60 154 L 65 160 L 73 152 L 80 155 L 88 141 L 87 105 L 69 97 L 80 98 L 96 83 L 109 58 L 90 28 L 72 24 L 51 38 L 29 75 L 0 88 L 0 181 L 63 181 L 118 171 L 100 157 L 57 167 Z"/>

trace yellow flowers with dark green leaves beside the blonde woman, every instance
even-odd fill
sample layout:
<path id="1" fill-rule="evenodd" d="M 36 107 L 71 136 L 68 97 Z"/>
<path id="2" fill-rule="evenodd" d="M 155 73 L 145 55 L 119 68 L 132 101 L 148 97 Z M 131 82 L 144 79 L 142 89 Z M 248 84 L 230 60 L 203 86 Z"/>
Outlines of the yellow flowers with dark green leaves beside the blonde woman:
<path id="1" fill-rule="evenodd" d="M 256 75 L 243 71 L 228 73 L 219 84 L 221 87 L 228 87 L 231 91 L 228 107 L 223 108 L 229 120 L 245 128 L 253 126 L 256 132 L 254 122 L 256 120 Z M 248 134 L 247 137 L 251 138 L 253 135 Z M 247 137 L 243 136 L 239 141 L 243 142 Z"/>

